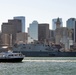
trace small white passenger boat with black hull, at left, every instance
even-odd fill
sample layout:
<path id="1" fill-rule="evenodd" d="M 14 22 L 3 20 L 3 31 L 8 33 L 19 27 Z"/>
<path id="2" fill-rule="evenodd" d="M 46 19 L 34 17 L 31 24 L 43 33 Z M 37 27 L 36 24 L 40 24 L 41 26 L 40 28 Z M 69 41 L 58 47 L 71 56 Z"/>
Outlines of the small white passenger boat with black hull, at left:
<path id="1" fill-rule="evenodd" d="M 22 53 L 2 52 L 0 53 L 0 62 L 21 62 L 24 57 Z"/>

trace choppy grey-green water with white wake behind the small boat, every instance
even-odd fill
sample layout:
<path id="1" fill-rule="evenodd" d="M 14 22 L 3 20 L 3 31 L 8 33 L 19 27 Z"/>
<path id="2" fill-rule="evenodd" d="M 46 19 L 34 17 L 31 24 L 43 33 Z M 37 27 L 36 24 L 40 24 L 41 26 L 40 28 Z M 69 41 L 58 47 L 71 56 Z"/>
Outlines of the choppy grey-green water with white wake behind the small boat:
<path id="1" fill-rule="evenodd" d="M 26 57 L 22 63 L 0 63 L 0 75 L 76 75 L 76 57 Z"/>

